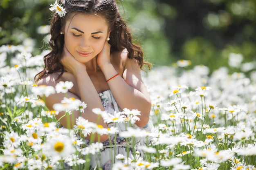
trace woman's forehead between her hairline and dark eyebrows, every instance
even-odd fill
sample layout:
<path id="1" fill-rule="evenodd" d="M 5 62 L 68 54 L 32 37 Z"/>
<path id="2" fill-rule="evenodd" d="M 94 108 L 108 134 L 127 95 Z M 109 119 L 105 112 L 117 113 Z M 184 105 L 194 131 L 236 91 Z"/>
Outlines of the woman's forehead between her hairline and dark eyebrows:
<path id="1" fill-rule="evenodd" d="M 103 17 L 83 13 L 73 14 L 67 19 L 65 27 L 72 28 L 74 26 L 83 29 L 84 31 L 92 29 L 108 29 L 108 23 Z"/>

